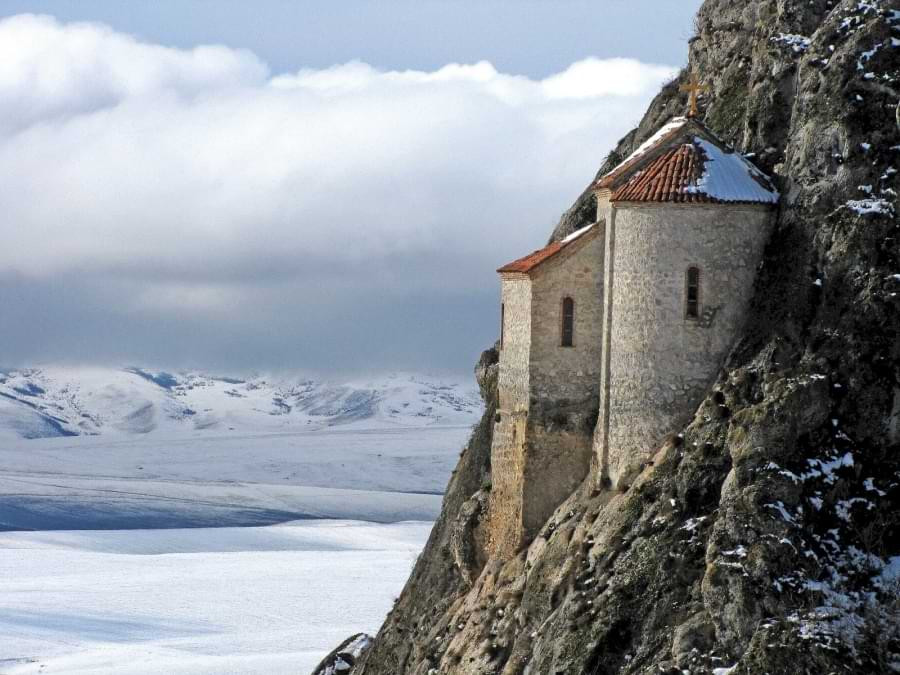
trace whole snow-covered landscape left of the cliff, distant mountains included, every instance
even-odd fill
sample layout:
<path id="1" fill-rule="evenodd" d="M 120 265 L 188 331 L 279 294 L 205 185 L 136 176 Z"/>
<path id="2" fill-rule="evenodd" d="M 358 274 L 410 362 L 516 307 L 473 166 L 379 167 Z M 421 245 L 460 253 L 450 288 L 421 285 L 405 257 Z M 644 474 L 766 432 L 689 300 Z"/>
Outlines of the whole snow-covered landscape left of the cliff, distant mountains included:
<path id="1" fill-rule="evenodd" d="M 0 383 L 3 674 L 310 672 L 377 631 L 480 414 L 410 376 L 59 373 Z"/>

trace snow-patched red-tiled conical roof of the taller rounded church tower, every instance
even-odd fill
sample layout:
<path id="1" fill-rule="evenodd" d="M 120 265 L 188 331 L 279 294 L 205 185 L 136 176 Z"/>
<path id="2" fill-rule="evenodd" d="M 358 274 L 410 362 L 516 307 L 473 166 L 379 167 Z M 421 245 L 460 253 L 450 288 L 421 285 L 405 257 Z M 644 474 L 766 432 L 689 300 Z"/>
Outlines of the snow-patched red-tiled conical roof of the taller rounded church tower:
<path id="1" fill-rule="evenodd" d="M 696 119 L 676 117 L 597 181 L 613 202 L 775 204 L 772 180 Z"/>

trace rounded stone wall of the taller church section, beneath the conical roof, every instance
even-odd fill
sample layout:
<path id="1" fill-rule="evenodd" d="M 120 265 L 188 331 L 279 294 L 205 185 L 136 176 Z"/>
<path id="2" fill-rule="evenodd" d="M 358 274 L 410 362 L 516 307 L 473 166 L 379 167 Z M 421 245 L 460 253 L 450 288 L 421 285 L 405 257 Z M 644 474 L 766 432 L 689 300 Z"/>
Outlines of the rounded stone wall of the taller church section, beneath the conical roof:
<path id="1" fill-rule="evenodd" d="M 613 485 L 689 417 L 740 329 L 771 210 L 621 204 L 611 209 L 608 373 L 595 452 Z M 685 316 L 686 273 L 700 269 L 700 318 Z"/>

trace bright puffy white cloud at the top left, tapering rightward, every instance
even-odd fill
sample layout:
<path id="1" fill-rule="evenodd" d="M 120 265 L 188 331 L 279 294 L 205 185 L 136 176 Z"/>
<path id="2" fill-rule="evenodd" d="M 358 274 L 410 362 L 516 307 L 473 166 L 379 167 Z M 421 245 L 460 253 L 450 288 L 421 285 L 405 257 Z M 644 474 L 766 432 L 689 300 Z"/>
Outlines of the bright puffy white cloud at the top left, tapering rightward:
<path id="1" fill-rule="evenodd" d="M 0 129 L 59 121 L 128 99 L 190 98 L 265 85 L 253 54 L 226 47 L 167 49 L 100 24 L 63 26 L 47 16 L 0 22 Z"/>

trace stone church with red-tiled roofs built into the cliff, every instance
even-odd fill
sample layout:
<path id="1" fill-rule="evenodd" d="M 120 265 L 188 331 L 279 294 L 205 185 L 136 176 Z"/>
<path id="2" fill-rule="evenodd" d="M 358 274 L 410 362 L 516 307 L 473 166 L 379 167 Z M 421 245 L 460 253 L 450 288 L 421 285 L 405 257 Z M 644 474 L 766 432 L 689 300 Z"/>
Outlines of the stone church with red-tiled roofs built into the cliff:
<path id="1" fill-rule="evenodd" d="M 745 318 L 779 199 L 692 116 L 592 190 L 594 224 L 498 270 L 496 556 L 530 541 L 589 472 L 628 485 L 690 419 Z"/>

